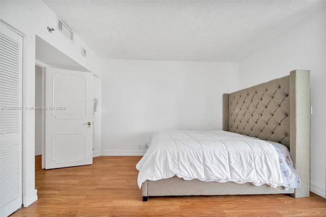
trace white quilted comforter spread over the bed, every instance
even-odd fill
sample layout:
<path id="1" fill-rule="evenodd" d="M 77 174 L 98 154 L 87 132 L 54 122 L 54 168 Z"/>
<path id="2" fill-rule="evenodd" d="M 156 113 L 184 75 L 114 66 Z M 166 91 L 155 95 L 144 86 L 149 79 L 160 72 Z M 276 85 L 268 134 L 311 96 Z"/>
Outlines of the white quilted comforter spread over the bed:
<path id="1" fill-rule="evenodd" d="M 273 145 L 222 130 L 157 131 L 136 168 L 140 188 L 146 180 L 173 176 L 272 187 L 283 184 Z"/>

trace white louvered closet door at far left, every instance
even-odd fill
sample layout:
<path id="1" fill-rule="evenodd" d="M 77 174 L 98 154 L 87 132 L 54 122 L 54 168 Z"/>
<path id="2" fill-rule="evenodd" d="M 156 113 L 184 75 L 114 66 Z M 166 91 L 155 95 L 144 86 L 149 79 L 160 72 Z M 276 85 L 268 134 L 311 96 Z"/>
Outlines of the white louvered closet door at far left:
<path id="1" fill-rule="evenodd" d="M 8 216 L 22 204 L 22 36 L 0 25 L 0 216 Z"/>

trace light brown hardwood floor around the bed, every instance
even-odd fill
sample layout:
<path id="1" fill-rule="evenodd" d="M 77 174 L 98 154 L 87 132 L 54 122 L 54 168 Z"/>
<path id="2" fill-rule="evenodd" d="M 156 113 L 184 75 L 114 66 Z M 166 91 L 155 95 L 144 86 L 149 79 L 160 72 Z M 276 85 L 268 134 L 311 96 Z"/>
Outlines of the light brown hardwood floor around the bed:
<path id="1" fill-rule="evenodd" d="M 326 199 L 287 195 L 151 197 L 142 201 L 139 156 L 101 156 L 93 165 L 41 169 L 38 201 L 11 216 L 326 216 Z"/>

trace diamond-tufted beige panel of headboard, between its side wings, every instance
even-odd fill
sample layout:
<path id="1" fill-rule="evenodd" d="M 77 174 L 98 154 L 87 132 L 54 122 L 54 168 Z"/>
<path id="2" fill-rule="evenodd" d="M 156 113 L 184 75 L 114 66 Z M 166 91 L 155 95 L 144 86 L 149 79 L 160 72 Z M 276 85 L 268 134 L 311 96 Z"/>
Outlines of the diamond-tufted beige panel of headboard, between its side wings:
<path id="1" fill-rule="evenodd" d="M 229 94 L 228 131 L 290 147 L 289 75 Z"/>

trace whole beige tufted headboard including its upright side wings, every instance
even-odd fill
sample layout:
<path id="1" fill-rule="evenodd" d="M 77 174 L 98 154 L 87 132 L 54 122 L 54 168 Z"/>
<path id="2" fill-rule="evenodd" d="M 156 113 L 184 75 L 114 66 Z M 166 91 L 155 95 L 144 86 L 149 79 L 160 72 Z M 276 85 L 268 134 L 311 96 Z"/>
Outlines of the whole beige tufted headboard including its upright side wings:
<path id="1" fill-rule="evenodd" d="M 302 182 L 294 197 L 309 197 L 310 71 L 223 94 L 223 130 L 287 146 Z"/>

